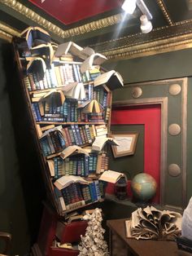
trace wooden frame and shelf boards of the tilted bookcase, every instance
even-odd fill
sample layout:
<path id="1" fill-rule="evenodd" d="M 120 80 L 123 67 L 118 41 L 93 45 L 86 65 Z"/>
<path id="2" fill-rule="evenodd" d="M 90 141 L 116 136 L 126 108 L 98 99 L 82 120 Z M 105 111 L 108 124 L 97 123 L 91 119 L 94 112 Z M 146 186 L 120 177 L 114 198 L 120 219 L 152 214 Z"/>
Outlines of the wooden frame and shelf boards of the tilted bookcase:
<path id="1" fill-rule="evenodd" d="M 86 203 L 85 205 L 81 205 L 81 206 L 77 206 L 76 208 L 72 209 L 72 210 L 62 210 L 60 203 L 59 203 L 59 199 L 58 197 L 55 195 L 54 192 L 54 184 L 52 182 L 51 176 L 50 176 L 50 170 L 49 170 L 49 166 L 47 164 L 47 160 L 49 159 L 49 157 L 46 157 L 43 155 L 42 153 L 42 148 L 41 148 L 41 144 L 40 144 L 40 130 L 41 127 L 44 126 L 49 126 L 49 125 L 55 125 L 55 126 L 71 126 L 71 125 L 78 125 L 78 126 L 85 126 L 85 125 L 90 125 L 90 126 L 98 126 L 98 125 L 103 125 L 105 124 L 107 126 L 107 130 L 109 133 L 109 129 L 110 129 L 110 125 L 111 125 L 111 97 L 112 97 L 112 93 L 110 90 L 106 90 L 107 88 L 105 88 L 105 86 L 103 86 L 103 90 L 107 91 L 107 94 L 109 94 L 109 100 L 107 102 L 107 108 L 110 108 L 110 113 L 109 113 L 109 117 L 107 119 L 107 121 L 97 121 L 97 122 L 92 122 L 92 121 L 37 121 L 36 118 L 34 117 L 33 114 L 33 108 L 32 108 L 32 102 L 31 102 L 31 97 L 33 96 L 33 93 L 40 93 L 40 92 L 47 92 L 49 90 L 51 90 L 52 88 L 49 89 L 44 89 L 44 90 L 28 90 L 26 84 L 24 83 L 24 73 L 23 73 L 23 66 L 21 61 L 23 60 L 23 58 L 20 58 L 20 54 L 19 54 L 19 50 L 17 48 L 17 38 L 13 38 L 13 42 L 12 42 L 14 51 L 15 51 L 15 60 L 18 66 L 18 70 L 19 70 L 19 76 L 20 76 L 20 85 L 22 87 L 22 90 L 24 92 L 24 99 L 26 102 L 26 106 L 27 106 L 27 110 L 28 110 L 28 117 L 31 121 L 31 127 L 33 130 L 33 138 L 35 140 L 35 144 L 36 144 L 36 148 L 37 148 L 37 153 L 39 156 L 39 160 L 41 163 L 41 170 L 42 170 L 42 174 L 43 174 L 43 178 L 45 180 L 45 184 L 46 184 L 46 192 L 47 192 L 47 199 L 48 201 L 50 201 L 51 205 L 55 208 L 55 210 L 57 211 L 57 214 L 59 214 L 59 216 L 65 216 L 66 214 L 68 214 L 70 211 L 72 210 L 78 210 L 81 209 L 82 207 L 85 207 L 87 205 L 92 205 L 93 203 L 97 203 L 98 201 L 103 201 L 103 199 L 101 200 L 97 200 L 97 201 L 92 201 L 90 203 Z M 58 62 L 55 62 L 58 63 Z M 60 63 L 66 63 L 61 61 Z M 73 62 L 68 62 L 73 64 Z M 76 63 L 76 62 L 74 62 Z M 78 63 L 79 64 L 79 63 Z M 84 83 L 84 85 L 88 86 L 89 84 L 91 84 L 92 86 L 94 86 L 93 82 L 86 82 Z M 62 87 L 57 87 L 56 89 L 60 90 Z M 86 145 L 85 145 L 86 146 Z M 58 153 L 59 155 L 59 153 Z M 55 157 L 57 157 L 57 155 L 55 155 Z M 50 157 L 51 158 L 51 157 Z M 94 179 L 98 179 L 98 174 L 95 175 L 95 177 L 91 177 L 90 175 L 90 179 L 94 180 Z"/>

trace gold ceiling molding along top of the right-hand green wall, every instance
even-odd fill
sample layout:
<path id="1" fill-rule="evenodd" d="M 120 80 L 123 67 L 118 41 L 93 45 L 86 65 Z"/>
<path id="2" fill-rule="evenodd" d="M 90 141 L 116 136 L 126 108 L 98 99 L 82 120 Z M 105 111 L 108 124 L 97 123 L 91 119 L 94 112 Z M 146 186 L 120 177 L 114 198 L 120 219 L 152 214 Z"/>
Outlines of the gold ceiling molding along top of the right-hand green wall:
<path id="1" fill-rule="evenodd" d="M 92 45 L 109 60 L 133 59 L 192 47 L 192 20 Z M 147 38 L 146 38 L 147 37 Z M 107 49 L 107 50 L 106 50 Z"/>

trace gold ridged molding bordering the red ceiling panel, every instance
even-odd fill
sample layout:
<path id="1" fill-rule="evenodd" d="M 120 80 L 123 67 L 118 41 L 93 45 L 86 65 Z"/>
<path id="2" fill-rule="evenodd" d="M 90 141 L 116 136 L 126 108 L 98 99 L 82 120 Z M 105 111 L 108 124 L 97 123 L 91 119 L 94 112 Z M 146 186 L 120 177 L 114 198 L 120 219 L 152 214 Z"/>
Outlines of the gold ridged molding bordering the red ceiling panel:
<path id="1" fill-rule="evenodd" d="M 118 24 L 124 18 L 123 14 L 112 15 L 107 18 L 103 18 L 101 20 L 95 20 L 88 24 L 81 25 L 79 27 L 63 30 L 60 29 L 55 24 L 50 23 L 49 20 L 46 20 L 38 15 L 35 11 L 25 7 L 22 3 L 17 0 L 0 0 L 0 2 L 7 7 L 14 9 L 14 11 L 20 12 L 20 14 L 24 15 L 26 18 L 33 20 L 37 24 L 41 25 L 43 28 L 47 29 L 50 33 L 54 33 L 60 38 L 71 38 L 76 35 L 81 35 L 84 33 L 89 33 L 93 30 L 103 29 L 108 26 Z M 124 18 L 125 20 L 128 18 Z"/>

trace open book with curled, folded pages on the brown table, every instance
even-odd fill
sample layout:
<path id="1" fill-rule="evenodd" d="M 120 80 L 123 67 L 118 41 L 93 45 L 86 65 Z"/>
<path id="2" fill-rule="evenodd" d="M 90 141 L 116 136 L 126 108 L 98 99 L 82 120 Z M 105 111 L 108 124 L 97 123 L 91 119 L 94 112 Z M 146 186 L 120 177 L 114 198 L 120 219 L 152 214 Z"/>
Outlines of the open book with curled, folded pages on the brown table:
<path id="1" fill-rule="evenodd" d="M 181 214 L 157 210 L 154 206 L 138 208 L 125 221 L 126 236 L 136 239 L 173 241 L 181 235 Z"/>

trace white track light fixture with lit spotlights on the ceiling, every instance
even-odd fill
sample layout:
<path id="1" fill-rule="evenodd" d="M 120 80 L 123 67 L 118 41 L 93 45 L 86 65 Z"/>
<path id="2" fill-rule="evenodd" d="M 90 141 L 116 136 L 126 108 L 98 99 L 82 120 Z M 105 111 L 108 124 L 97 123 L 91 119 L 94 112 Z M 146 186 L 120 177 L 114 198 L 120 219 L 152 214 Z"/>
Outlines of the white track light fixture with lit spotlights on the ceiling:
<path id="1" fill-rule="evenodd" d="M 151 21 L 153 16 L 151 12 L 146 7 L 146 4 L 143 0 L 124 0 L 121 8 L 129 14 L 133 14 L 136 9 L 136 6 L 142 11 L 142 16 L 140 17 L 142 33 L 149 33 L 153 29 Z"/>

